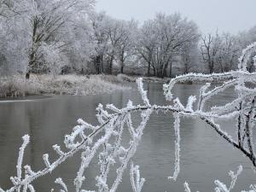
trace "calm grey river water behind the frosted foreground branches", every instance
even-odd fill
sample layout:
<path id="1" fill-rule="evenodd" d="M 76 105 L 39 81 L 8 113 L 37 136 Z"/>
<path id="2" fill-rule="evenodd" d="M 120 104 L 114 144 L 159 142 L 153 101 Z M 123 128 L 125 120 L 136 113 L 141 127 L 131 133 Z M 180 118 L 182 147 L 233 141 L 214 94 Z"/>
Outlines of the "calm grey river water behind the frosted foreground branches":
<path id="1" fill-rule="evenodd" d="M 151 103 L 166 104 L 163 96 L 162 84 L 145 84 Z M 176 96 L 184 102 L 190 95 L 195 95 L 200 85 L 178 84 L 175 88 Z M 216 96 L 210 101 L 226 102 L 234 97 L 230 90 Z M 49 160 L 56 155 L 51 146 L 63 143 L 65 134 L 72 131 L 76 120 L 82 118 L 91 124 L 96 124 L 95 108 L 98 103 L 114 103 L 117 107 L 125 107 L 129 99 L 135 104 L 142 103 L 136 87 L 131 90 L 116 91 L 114 94 L 97 96 L 52 96 L 27 97 L 26 101 L 0 101 L 0 186 L 8 189 L 11 186 L 10 176 L 16 175 L 15 165 L 20 148 L 21 137 L 31 136 L 31 143 L 26 148 L 25 164 L 31 165 L 33 170 L 44 167 L 42 155 L 49 153 Z M 139 115 L 133 117 L 135 121 Z M 241 152 L 234 149 L 212 131 L 212 129 L 198 119 L 182 119 L 181 128 L 181 173 L 177 182 L 167 180 L 174 170 L 174 140 L 173 119 L 171 113 L 154 114 L 148 121 L 142 142 L 133 158 L 140 166 L 141 176 L 146 178 L 144 192 L 181 192 L 183 183 L 187 181 L 192 191 L 214 191 L 214 180 L 230 183 L 228 172 L 236 171 L 242 165 L 244 171 L 238 179 L 234 192 L 248 189 L 256 183 L 256 177 L 251 164 Z M 234 120 L 223 123 L 227 131 L 235 131 Z M 124 137 L 128 137 L 125 135 Z M 63 145 L 61 145 L 63 148 Z M 58 189 L 54 181 L 56 177 L 68 184 L 69 191 L 73 189 L 73 178 L 79 169 L 80 154 L 67 160 L 51 175 L 39 178 L 34 187 L 39 192 Z M 86 189 L 95 189 L 94 177 L 98 174 L 96 161 L 93 160 L 86 171 Z M 113 173 L 111 175 L 113 177 Z M 111 179 L 110 179 L 111 180 Z M 131 190 L 129 173 L 125 173 L 119 192 Z"/>

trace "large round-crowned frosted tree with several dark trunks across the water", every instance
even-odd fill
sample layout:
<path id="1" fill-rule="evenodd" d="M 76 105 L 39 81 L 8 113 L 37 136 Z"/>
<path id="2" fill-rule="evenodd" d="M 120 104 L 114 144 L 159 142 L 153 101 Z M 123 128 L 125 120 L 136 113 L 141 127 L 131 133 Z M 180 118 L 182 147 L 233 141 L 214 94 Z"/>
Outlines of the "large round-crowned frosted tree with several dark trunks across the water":
<path id="1" fill-rule="evenodd" d="M 163 78 L 169 67 L 172 76 L 172 60 L 181 55 L 183 47 L 198 39 L 197 26 L 193 21 L 183 19 L 181 15 L 158 14 L 154 20 L 145 22 L 142 32 L 151 37 L 141 38 L 139 53 L 154 69 L 154 75 Z M 146 54 L 145 54 L 146 53 Z"/>

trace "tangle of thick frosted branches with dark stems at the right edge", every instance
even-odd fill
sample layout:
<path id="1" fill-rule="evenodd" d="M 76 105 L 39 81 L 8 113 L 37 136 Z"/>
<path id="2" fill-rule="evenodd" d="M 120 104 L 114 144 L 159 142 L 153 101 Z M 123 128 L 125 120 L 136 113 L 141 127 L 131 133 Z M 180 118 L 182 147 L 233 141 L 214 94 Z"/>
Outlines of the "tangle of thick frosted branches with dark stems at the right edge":
<path id="1" fill-rule="evenodd" d="M 249 73 L 247 71 L 247 61 L 250 56 L 254 54 L 256 44 L 253 43 L 242 51 L 241 58 L 238 63 L 239 70 L 231 71 L 228 73 L 212 73 L 212 74 L 195 74 L 189 73 L 186 75 L 178 76 L 172 79 L 169 84 L 164 85 L 164 91 L 166 99 L 177 103 L 173 99 L 172 88 L 175 84 L 180 82 L 192 81 L 192 82 L 212 82 L 215 81 L 218 84 L 213 87 L 212 84 L 207 83 L 201 87 L 198 107 L 193 110 L 188 102 L 189 110 L 196 113 L 201 119 L 211 125 L 212 128 L 223 137 L 228 143 L 231 143 L 235 148 L 241 150 L 256 166 L 256 158 L 253 147 L 253 126 L 254 126 L 254 102 L 256 97 L 255 91 L 255 72 Z M 210 109 L 204 108 L 205 103 L 212 99 L 213 96 L 218 96 L 225 90 L 233 89 L 237 96 L 233 101 L 229 101 L 225 104 L 220 104 L 218 107 L 212 106 Z M 195 101 L 195 96 L 190 96 Z M 191 99 L 190 99 L 191 100 Z M 180 103 L 179 106 L 183 104 Z M 195 113 L 190 113 L 193 116 Z M 221 129 L 215 119 L 226 118 L 226 119 L 237 119 L 237 131 L 236 138 L 234 140 L 229 134 Z"/>

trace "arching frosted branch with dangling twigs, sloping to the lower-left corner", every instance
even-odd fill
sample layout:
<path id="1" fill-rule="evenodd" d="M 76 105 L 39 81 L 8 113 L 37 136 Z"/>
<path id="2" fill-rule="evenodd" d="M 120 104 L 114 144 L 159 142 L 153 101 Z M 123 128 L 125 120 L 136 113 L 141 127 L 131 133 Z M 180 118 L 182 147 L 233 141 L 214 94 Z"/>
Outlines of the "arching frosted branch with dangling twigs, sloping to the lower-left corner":
<path id="1" fill-rule="evenodd" d="M 27 189 L 27 187 L 30 186 L 35 179 L 53 172 L 57 166 L 60 166 L 62 162 L 72 157 L 73 154 L 82 152 L 81 166 L 79 168 L 78 175 L 74 180 L 76 191 L 80 191 L 85 178 L 84 171 L 88 166 L 90 166 L 90 161 L 96 155 L 97 151 L 100 150 L 100 148 L 103 148 L 103 151 L 99 154 L 101 173 L 98 177 L 96 177 L 98 191 L 116 191 L 128 163 L 137 151 L 137 145 L 143 136 L 143 130 L 146 128 L 150 114 L 159 111 L 175 113 L 183 112 L 183 115 L 186 113 L 191 113 L 189 110 L 183 110 L 184 108 L 180 108 L 178 105 L 177 107 L 157 105 L 151 106 L 148 102 L 146 102 L 148 101 L 148 97 L 146 91 L 143 90 L 142 79 L 138 79 L 137 84 L 145 105 L 134 106 L 132 102 L 128 102 L 127 107 L 122 109 L 118 109 L 113 105 L 107 105 L 108 110 L 110 110 L 110 112 L 108 112 L 100 104 L 97 108 L 98 113 L 96 115 L 99 125 L 90 125 L 84 120 L 79 119 L 79 125 L 75 126 L 73 128 L 73 132 L 65 137 L 64 143 L 67 148 L 67 152 L 65 152 L 65 150 L 61 150 L 59 145 L 54 145 L 53 149 L 55 150 L 56 154 L 59 155 L 57 160 L 49 160 L 49 154 L 44 154 L 44 169 L 35 172 L 32 171 L 30 166 L 25 166 L 26 177 L 23 179 L 20 177 L 20 180 L 13 178 L 12 180 L 14 181 L 14 186 L 5 191 L 11 192 L 19 191 L 19 189 Z M 138 111 L 142 112 L 142 122 L 137 128 L 134 128 L 132 125 L 131 113 Z M 125 148 L 120 144 L 125 126 L 131 133 L 130 147 L 128 148 Z M 86 135 L 85 131 L 90 131 L 90 134 Z M 95 137 L 100 138 L 94 141 Z M 110 138 L 115 138 L 115 142 L 111 143 Z M 25 147 L 20 148 L 20 154 L 23 154 L 24 148 Z M 118 162 L 120 162 L 120 166 L 117 170 L 117 177 L 112 186 L 109 187 L 107 178 L 110 165 Z M 20 163 L 18 165 L 20 165 Z"/>

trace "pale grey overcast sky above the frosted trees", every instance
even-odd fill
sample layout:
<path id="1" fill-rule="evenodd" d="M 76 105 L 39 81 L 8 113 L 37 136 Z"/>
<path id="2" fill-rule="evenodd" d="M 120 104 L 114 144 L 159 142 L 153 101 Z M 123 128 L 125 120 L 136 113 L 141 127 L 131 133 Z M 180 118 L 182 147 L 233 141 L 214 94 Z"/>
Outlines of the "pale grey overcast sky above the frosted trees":
<path id="1" fill-rule="evenodd" d="M 143 20 L 175 12 L 194 20 L 201 32 L 236 33 L 256 25 L 256 0 L 97 0 L 96 10 L 118 19 Z"/>

